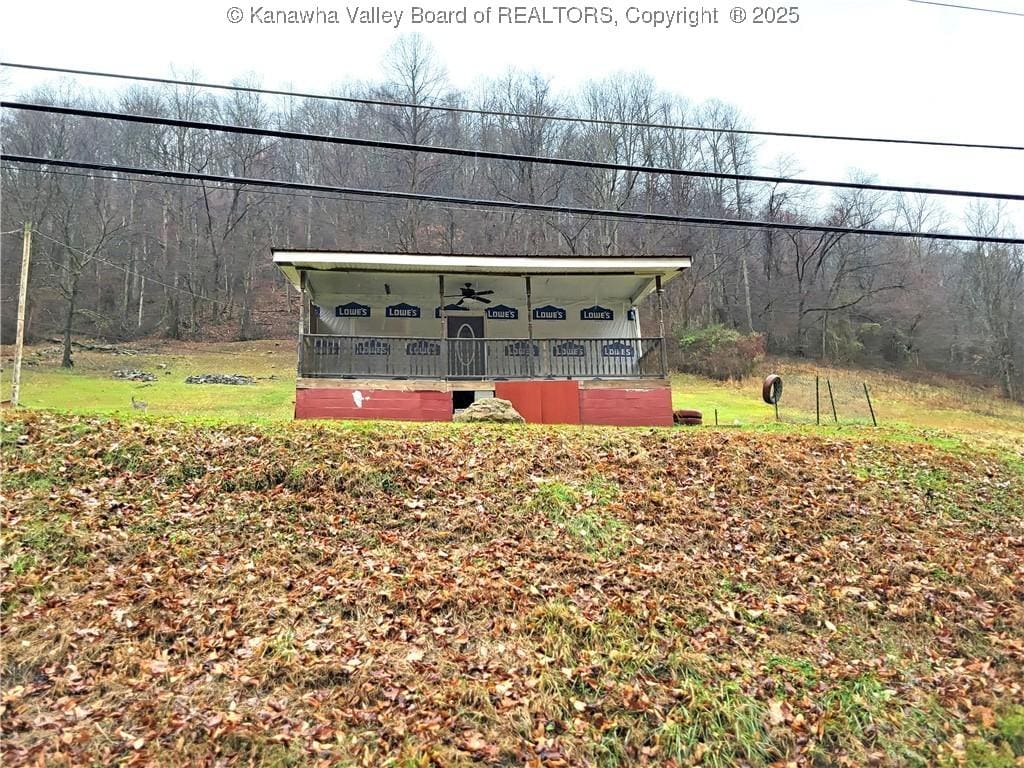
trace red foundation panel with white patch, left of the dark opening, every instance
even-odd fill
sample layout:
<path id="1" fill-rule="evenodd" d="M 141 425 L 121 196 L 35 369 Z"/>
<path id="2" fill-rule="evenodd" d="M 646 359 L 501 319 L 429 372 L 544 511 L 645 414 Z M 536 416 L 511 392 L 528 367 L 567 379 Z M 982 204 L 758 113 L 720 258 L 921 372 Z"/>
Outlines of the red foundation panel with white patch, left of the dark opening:
<path id="1" fill-rule="evenodd" d="M 296 419 L 452 421 L 451 392 L 311 388 L 295 391 Z"/>

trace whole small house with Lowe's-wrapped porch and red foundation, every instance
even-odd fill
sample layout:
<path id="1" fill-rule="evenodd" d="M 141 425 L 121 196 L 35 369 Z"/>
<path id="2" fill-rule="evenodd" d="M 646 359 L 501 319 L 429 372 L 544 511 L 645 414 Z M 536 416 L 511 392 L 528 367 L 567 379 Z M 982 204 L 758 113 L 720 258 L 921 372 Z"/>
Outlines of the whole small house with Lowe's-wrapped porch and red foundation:
<path id="1" fill-rule="evenodd" d="M 300 302 L 295 417 L 671 425 L 663 287 L 688 257 L 274 250 Z M 656 336 L 637 306 L 657 296 Z M 648 324 L 654 325 L 654 324 Z"/>

